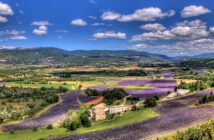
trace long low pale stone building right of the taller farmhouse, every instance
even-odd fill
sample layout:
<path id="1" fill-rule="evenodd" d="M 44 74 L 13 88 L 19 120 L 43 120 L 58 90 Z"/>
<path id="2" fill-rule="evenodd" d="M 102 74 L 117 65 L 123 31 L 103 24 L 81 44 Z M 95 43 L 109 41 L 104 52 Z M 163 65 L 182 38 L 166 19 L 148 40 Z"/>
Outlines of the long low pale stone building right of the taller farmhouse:
<path id="1" fill-rule="evenodd" d="M 109 113 L 115 114 L 115 113 L 131 110 L 132 108 L 133 108 L 133 105 L 111 106 L 109 107 Z"/>

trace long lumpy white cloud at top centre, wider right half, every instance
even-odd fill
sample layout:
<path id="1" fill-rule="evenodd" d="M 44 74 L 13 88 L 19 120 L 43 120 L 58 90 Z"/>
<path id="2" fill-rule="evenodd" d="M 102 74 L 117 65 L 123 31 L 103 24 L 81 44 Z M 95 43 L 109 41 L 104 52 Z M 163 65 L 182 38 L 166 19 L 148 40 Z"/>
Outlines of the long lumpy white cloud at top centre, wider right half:
<path id="1" fill-rule="evenodd" d="M 159 18 L 170 17 L 175 14 L 175 11 L 170 10 L 163 12 L 160 8 L 149 7 L 138 9 L 132 14 L 122 15 L 113 11 L 104 12 L 101 16 L 102 20 L 117 20 L 120 22 L 130 21 L 154 21 Z"/>

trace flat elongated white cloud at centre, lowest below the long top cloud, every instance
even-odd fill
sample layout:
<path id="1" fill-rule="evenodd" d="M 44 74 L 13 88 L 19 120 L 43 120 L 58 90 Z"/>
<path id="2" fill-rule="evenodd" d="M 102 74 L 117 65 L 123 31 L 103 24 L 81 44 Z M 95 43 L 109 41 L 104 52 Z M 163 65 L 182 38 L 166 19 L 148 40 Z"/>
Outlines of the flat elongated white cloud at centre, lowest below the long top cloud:
<path id="1" fill-rule="evenodd" d="M 126 34 L 125 33 L 115 33 L 113 31 L 107 31 L 104 33 L 95 33 L 92 36 L 92 39 L 97 40 L 97 39 L 106 39 L 106 38 L 116 38 L 116 39 L 126 39 Z"/>

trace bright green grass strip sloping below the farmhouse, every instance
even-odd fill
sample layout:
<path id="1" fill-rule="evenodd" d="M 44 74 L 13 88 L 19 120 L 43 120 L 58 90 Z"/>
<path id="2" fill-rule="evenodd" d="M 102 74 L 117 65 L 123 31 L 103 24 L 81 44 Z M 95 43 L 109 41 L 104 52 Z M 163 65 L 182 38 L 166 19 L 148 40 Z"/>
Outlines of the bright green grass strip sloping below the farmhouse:
<path id="1" fill-rule="evenodd" d="M 19 131 L 14 134 L 1 133 L 0 140 L 38 140 L 41 138 L 54 138 L 59 136 L 83 134 L 138 123 L 157 116 L 158 114 L 150 109 L 140 109 L 134 112 L 126 112 L 123 116 L 116 117 L 112 120 L 93 123 L 90 128 L 80 128 L 76 131 L 67 131 L 64 128 L 56 126 L 51 130 L 41 128 L 38 129 L 38 131 Z"/>

